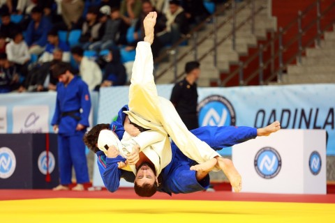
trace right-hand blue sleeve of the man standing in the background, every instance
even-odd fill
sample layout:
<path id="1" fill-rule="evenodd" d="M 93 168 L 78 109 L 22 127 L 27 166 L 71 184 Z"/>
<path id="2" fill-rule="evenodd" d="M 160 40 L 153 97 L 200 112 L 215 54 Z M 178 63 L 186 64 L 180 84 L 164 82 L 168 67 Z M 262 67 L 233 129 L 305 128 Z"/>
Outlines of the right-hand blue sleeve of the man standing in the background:
<path id="1" fill-rule="evenodd" d="M 91 112 L 91 96 L 89 95 L 89 87 L 84 82 L 80 85 L 80 104 L 82 113 L 80 114 L 79 123 L 88 127 L 89 112 Z"/>

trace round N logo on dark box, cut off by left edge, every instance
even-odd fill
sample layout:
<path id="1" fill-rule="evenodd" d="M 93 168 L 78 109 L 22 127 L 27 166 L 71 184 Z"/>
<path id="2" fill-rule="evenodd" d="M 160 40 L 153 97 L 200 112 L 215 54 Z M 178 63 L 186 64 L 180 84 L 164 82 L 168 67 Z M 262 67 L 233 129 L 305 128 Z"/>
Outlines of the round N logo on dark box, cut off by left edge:
<path id="1" fill-rule="evenodd" d="M 0 178 L 12 176 L 16 167 L 16 159 L 10 148 L 0 148 Z"/>

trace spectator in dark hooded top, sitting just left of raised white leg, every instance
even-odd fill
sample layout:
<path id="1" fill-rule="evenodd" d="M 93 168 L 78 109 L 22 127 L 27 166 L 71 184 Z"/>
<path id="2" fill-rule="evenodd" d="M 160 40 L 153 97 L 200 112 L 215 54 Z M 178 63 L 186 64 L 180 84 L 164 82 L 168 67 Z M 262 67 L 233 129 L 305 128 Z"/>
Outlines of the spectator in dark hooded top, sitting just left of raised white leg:
<path id="1" fill-rule="evenodd" d="M 104 67 L 105 72 L 100 87 L 121 86 L 126 84 L 126 68 L 124 68 L 124 65 L 121 63 L 119 49 L 112 48 L 110 53 L 105 56 L 105 61 L 107 63 Z"/>

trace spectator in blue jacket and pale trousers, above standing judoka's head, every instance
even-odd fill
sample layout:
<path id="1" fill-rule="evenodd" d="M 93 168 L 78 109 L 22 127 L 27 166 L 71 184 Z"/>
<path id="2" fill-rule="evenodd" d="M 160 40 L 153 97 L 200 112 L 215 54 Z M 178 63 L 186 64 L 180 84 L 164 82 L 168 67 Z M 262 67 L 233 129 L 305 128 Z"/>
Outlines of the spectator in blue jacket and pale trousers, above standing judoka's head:
<path id="1" fill-rule="evenodd" d="M 70 62 L 70 47 L 67 43 L 59 40 L 57 31 L 52 29 L 49 31 L 49 33 L 47 33 L 47 42 L 48 43 L 45 47 L 45 51 L 42 56 L 40 56 L 38 61 L 42 63 L 52 61 L 54 49 L 58 48 L 63 52 L 62 61 Z"/>

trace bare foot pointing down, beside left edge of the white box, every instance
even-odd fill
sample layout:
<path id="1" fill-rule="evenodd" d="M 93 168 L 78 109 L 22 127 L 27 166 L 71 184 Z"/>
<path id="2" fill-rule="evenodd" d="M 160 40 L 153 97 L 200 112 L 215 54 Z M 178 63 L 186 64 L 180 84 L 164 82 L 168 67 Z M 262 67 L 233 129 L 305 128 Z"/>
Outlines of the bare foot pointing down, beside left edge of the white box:
<path id="1" fill-rule="evenodd" d="M 223 157 L 216 157 L 216 160 L 218 161 L 218 167 L 222 169 L 223 173 L 230 181 L 230 185 L 232 185 L 234 192 L 240 192 L 242 189 L 242 178 L 234 167 L 232 160 Z"/>

